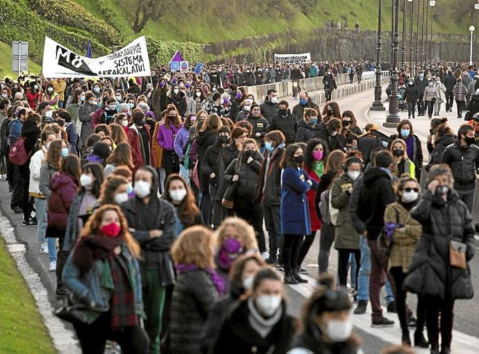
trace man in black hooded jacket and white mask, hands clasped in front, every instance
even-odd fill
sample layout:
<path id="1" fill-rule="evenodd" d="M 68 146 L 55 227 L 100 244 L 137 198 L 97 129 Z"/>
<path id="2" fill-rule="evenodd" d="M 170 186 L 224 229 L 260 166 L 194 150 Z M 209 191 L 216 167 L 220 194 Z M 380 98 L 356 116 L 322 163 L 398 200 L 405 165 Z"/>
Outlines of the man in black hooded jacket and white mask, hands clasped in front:
<path id="1" fill-rule="evenodd" d="M 120 205 L 129 230 L 142 248 L 144 329 L 150 338 L 150 353 L 160 352 L 167 288 L 174 283 L 169 248 L 176 239 L 178 223 L 174 206 L 158 198 L 159 187 L 156 171 L 149 166 L 140 167 L 135 173 L 135 198 Z"/>

